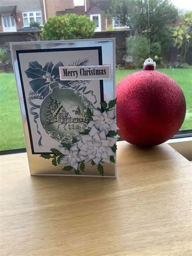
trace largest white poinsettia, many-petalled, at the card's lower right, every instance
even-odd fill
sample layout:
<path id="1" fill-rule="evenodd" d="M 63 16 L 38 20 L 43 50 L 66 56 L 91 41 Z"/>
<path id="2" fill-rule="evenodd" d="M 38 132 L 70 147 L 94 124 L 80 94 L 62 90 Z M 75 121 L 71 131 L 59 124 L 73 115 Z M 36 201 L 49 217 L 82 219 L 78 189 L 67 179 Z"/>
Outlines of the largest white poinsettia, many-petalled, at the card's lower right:
<path id="1" fill-rule="evenodd" d="M 97 166 L 100 161 L 110 163 L 110 156 L 115 155 L 111 147 L 116 140 L 116 138 L 106 137 L 105 131 L 99 132 L 92 127 L 90 133 L 81 135 L 81 140 L 77 142 L 79 155 L 85 157 L 85 163 L 94 161 Z"/>

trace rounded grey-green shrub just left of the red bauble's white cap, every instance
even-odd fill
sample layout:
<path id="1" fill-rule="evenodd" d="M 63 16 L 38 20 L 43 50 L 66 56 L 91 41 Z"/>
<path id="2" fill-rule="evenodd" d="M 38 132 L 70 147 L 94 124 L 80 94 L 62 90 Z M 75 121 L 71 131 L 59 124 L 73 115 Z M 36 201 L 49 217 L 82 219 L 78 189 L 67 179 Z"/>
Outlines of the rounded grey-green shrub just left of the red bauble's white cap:
<path id="1" fill-rule="evenodd" d="M 143 67 L 143 62 L 149 58 L 149 44 L 145 37 L 136 35 L 126 38 L 127 59 L 133 68 Z"/>

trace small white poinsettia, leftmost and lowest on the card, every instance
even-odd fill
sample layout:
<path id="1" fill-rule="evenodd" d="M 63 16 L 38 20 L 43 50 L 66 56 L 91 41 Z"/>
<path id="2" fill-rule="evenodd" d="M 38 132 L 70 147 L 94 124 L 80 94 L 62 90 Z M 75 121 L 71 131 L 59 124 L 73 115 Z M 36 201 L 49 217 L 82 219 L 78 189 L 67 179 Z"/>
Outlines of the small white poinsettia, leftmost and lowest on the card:
<path id="1" fill-rule="evenodd" d="M 74 144 L 69 150 L 65 147 L 59 146 L 60 152 L 64 155 L 60 160 L 60 164 L 69 163 L 71 167 L 78 169 L 79 162 L 85 160 L 84 156 L 79 155 L 79 148 L 77 143 Z"/>

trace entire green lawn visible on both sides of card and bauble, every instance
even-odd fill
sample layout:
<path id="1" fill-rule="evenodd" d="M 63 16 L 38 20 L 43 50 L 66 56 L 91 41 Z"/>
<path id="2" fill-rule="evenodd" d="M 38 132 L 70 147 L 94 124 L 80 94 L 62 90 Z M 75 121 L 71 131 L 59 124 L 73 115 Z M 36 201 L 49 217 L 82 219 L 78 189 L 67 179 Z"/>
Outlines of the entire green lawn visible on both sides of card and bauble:
<path id="1" fill-rule="evenodd" d="M 117 70 L 116 82 L 137 70 Z M 158 69 L 172 77 L 183 90 L 187 102 L 186 119 L 181 127 L 192 129 L 192 70 L 191 69 Z M 15 86 L 14 74 L 0 73 L 0 151 L 24 148 L 24 136 Z"/>

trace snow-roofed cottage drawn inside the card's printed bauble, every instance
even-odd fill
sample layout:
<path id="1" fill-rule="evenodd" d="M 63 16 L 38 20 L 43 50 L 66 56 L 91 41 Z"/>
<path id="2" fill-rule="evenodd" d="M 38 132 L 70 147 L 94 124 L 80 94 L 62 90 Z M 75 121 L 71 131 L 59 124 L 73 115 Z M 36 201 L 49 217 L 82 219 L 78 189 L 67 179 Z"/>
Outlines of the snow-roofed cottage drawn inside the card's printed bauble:
<path id="1" fill-rule="evenodd" d="M 66 101 L 61 101 L 58 108 L 53 112 L 53 118 L 59 123 L 80 123 L 85 120 L 79 105 L 73 105 Z"/>

